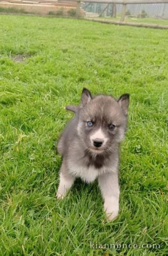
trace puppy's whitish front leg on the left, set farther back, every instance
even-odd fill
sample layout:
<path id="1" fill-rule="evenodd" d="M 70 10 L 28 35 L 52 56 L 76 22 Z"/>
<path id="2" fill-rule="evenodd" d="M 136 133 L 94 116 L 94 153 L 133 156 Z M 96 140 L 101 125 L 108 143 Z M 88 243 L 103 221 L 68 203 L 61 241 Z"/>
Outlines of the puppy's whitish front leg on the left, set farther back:
<path id="1" fill-rule="evenodd" d="M 60 170 L 60 184 L 56 193 L 57 199 L 61 199 L 65 196 L 66 191 L 72 187 L 74 180 L 75 178 L 66 171 L 65 164 L 62 163 Z"/>

